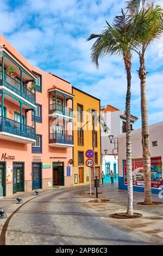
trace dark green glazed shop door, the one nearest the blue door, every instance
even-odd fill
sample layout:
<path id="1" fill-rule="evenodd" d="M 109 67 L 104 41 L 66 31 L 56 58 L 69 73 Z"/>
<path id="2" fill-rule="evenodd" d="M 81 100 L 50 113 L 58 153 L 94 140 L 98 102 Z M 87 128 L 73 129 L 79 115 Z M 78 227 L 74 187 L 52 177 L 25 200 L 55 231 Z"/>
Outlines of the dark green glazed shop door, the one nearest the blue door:
<path id="1" fill-rule="evenodd" d="M 13 163 L 13 194 L 24 191 L 24 164 Z"/>

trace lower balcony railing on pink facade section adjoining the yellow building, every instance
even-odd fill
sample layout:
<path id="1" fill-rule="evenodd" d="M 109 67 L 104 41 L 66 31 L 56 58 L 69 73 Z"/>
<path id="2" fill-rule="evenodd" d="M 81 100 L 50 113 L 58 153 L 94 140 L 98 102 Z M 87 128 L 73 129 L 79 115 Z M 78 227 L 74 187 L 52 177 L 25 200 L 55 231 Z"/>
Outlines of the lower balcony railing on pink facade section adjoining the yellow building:
<path id="1" fill-rule="evenodd" d="M 62 133 L 57 133 L 57 132 L 50 133 L 49 144 L 51 144 L 51 143 L 73 145 L 73 136 L 62 134 Z"/>

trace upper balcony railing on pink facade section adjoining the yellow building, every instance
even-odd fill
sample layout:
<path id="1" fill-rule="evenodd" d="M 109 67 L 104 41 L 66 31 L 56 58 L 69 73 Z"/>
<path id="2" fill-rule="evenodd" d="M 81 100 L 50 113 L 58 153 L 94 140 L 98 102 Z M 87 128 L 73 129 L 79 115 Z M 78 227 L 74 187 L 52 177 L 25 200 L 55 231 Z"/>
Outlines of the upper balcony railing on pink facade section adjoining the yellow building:
<path id="1" fill-rule="evenodd" d="M 56 104 L 56 107 L 55 107 L 55 103 L 49 105 L 49 114 L 54 114 L 54 113 L 66 115 L 67 117 L 73 117 L 72 108 L 66 107 L 60 104 Z"/>

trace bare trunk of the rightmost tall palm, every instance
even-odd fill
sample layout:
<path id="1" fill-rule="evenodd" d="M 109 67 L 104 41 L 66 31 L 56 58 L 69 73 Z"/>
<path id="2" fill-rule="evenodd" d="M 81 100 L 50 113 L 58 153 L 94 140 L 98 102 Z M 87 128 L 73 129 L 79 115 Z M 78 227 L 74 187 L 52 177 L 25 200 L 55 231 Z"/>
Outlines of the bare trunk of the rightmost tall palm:
<path id="1" fill-rule="evenodd" d="M 145 181 L 144 203 L 152 204 L 151 191 L 151 149 L 148 125 L 148 107 L 146 95 L 146 66 L 143 54 L 140 53 L 139 78 L 141 80 L 141 122 L 142 122 L 142 155 Z"/>

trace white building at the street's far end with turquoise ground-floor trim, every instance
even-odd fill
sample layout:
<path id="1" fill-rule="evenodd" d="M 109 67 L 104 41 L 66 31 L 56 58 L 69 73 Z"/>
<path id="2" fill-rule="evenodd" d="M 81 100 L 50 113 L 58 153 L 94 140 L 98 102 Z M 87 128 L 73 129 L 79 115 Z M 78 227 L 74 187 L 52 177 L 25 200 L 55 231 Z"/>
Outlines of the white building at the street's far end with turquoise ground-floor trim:
<path id="1" fill-rule="evenodd" d="M 126 132 L 126 115 L 125 112 L 112 107 L 110 105 L 101 107 L 101 115 L 105 120 L 106 125 L 109 127 L 109 134 L 101 131 L 102 142 L 102 170 L 105 176 L 108 177 L 110 170 L 113 170 L 115 178 L 118 178 L 118 151 L 117 151 L 117 137 L 121 133 Z M 131 130 L 134 129 L 134 123 L 137 121 L 137 117 L 131 115 Z M 125 133 L 126 134 L 126 133 Z M 110 143 L 110 136 L 114 136 Z M 109 181 L 108 179 L 106 179 Z"/>

